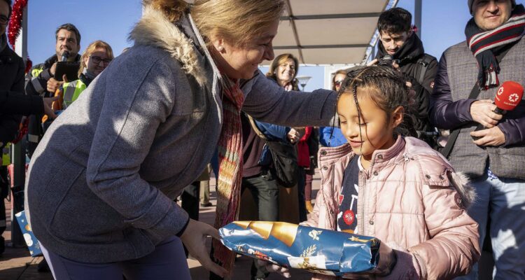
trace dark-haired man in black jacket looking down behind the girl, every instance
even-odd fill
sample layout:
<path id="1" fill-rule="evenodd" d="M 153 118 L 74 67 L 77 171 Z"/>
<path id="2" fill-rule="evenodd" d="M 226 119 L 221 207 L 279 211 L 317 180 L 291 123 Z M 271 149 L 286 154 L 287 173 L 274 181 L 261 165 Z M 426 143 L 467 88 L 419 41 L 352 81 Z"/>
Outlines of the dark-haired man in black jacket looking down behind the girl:
<path id="1" fill-rule="evenodd" d="M 379 15 L 377 30 L 381 43 L 377 58 L 370 64 L 392 66 L 405 74 L 416 93 L 414 136 L 437 148 L 435 128 L 428 120 L 428 104 L 437 73 L 437 60 L 425 53 L 421 39 L 412 30 L 412 15 L 407 10 L 385 10 Z"/>

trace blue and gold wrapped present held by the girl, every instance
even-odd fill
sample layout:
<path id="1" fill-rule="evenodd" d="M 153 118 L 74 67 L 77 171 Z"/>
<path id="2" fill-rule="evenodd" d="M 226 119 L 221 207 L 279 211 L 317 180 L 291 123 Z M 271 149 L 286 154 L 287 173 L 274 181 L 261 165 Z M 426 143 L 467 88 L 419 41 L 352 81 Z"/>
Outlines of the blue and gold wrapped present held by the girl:
<path id="1" fill-rule="evenodd" d="M 230 250 L 285 267 L 333 276 L 374 272 L 379 240 L 281 222 L 237 221 L 219 229 Z"/>

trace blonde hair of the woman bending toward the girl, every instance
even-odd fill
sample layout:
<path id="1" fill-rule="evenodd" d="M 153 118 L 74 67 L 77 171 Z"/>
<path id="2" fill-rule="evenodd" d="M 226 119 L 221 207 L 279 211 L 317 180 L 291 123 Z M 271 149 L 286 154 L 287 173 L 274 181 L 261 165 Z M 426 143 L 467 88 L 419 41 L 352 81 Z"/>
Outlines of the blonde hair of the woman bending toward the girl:
<path id="1" fill-rule="evenodd" d="M 189 9 L 207 43 L 211 36 L 218 36 L 236 45 L 266 31 L 285 6 L 283 0 L 195 0 L 193 5 L 183 0 L 143 0 L 143 4 L 162 11 L 171 22 Z"/>

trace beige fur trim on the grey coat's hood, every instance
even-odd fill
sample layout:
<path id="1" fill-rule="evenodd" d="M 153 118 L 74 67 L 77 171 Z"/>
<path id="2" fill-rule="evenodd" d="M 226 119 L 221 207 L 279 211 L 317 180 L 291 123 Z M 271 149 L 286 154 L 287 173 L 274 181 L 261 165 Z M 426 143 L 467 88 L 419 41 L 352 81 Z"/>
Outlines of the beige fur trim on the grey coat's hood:
<path id="1" fill-rule="evenodd" d="M 199 85 L 204 86 L 206 83 L 206 74 L 190 38 L 160 11 L 146 6 L 141 20 L 130 34 L 130 40 L 139 45 L 152 45 L 166 50 L 173 59 L 181 62 L 183 71 L 195 77 Z"/>

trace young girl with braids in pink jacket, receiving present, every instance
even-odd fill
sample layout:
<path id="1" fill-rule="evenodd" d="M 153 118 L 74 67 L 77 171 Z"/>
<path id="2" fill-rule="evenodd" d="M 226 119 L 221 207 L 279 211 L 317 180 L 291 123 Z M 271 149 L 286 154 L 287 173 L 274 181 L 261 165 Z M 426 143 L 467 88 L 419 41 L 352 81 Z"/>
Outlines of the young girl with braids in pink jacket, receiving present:
<path id="1" fill-rule="evenodd" d="M 479 258 L 465 211 L 474 195 L 439 153 L 402 136 L 408 92 L 386 66 L 348 73 L 337 99 L 348 144 L 321 148 L 321 190 L 303 224 L 380 239 L 379 279 L 451 279 Z"/>

